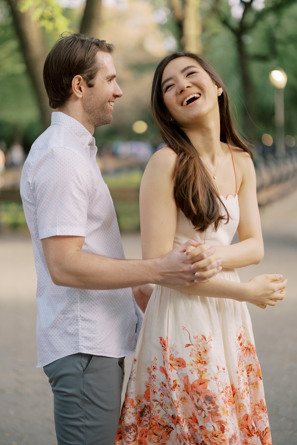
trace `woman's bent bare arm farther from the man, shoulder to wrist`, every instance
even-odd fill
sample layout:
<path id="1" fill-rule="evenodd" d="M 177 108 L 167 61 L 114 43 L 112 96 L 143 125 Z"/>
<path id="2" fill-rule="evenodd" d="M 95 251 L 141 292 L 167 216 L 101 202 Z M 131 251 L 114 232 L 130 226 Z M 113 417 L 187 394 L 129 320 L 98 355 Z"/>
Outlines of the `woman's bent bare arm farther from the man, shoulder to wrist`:
<path id="1" fill-rule="evenodd" d="M 215 251 L 223 258 L 223 267 L 236 269 L 260 263 L 264 255 L 264 246 L 256 195 L 255 168 L 248 153 L 235 148 L 233 153 L 239 177 L 240 216 L 237 229 L 239 243 L 215 246 Z M 195 255 L 194 250 L 192 255 Z"/>

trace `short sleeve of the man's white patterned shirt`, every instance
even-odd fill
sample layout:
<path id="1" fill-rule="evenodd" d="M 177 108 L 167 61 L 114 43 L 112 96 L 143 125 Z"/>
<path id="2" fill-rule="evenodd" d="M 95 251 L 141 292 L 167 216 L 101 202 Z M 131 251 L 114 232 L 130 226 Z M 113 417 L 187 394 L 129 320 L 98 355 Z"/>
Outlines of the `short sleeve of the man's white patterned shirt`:
<path id="1" fill-rule="evenodd" d="M 34 164 L 32 191 L 39 239 L 55 235 L 87 235 L 91 193 L 90 165 L 79 154 L 52 148 Z"/>

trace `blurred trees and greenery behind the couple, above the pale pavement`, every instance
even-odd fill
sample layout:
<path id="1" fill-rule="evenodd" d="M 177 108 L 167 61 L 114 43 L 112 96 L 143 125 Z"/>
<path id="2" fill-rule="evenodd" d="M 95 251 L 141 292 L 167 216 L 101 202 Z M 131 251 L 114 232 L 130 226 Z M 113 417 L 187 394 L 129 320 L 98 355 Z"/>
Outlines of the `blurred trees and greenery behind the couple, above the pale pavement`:
<path id="1" fill-rule="evenodd" d="M 148 106 L 150 85 L 161 58 L 177 49 L 202 53 L 222 75 L 235 121 L 255 146 L 258 190 L 292 179 L 296 22 L 295 0 L 0 0 L 0 227 L 26 227 L 21 166 L 50 124 L 42 69 L 65 31 L 115 44 L 124 96 L 95 138 L 121 230 L 139 230 L 140 179 L 162 144 Z"/>

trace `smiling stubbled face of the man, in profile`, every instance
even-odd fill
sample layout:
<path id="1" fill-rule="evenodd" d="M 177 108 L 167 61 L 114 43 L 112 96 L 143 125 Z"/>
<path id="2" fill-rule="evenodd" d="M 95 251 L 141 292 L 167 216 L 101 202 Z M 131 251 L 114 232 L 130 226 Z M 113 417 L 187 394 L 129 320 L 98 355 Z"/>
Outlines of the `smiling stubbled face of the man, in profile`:
<path id="1" fill-rule="evenodd" d="M 83 107 L 87 121 L 95 127 L 110 124 L 115 99 L 123 95 L 115 81 L 115 65 L 112 57 L 105 51 L 98 51 L 96 58 L 99 71 L 94 86 L 87 88 L 83 97 Z"/>

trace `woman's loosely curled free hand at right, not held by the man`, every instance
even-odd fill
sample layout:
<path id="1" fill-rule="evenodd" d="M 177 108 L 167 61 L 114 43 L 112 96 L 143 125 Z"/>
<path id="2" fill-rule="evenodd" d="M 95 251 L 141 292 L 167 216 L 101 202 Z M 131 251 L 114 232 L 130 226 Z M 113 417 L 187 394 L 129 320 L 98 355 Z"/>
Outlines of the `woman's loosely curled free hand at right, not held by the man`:
<path id="1" fill-rule="evenodd" d="M 257 275 L 252 278 L 246 283 L 247 298 L 245 301 L 262 309 L 265 309 L 267 305 L 275 306 L 277 300 L 282 300 L 285 297 L 287 279 L 282 278 L 282 275 L 277 274 Z"/>

